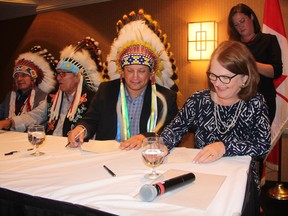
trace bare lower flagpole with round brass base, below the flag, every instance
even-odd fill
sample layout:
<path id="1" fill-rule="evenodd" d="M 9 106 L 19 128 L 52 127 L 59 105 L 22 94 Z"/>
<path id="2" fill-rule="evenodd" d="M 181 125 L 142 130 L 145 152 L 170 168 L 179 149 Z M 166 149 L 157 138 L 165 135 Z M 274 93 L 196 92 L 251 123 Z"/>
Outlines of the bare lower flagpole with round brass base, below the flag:
<path id="1" fill-rule="evenodd" d="M 288 200 L 288 190 L 282 183 L 282 135 L 279 139 L 279 163 L 278 163 L 278 181 L 273 188 L 268 190 L 269 197 L 277 200 Z"/>

